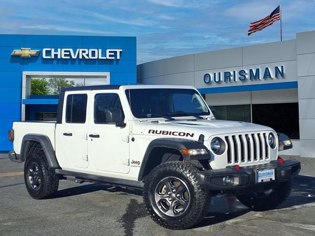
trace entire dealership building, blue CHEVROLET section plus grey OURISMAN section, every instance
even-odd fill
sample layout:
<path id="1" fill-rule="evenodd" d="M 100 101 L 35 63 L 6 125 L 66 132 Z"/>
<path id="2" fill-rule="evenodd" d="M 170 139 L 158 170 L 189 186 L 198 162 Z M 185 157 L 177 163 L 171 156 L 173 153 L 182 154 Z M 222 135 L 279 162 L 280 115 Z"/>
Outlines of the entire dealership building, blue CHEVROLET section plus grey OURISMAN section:
<path id="1" fill-rule="evenodd" d="M 58 96 L 31 95 L 32 78 L 83 85 L 191 85 L 216 118 L 271 126 L 315 157 L 315 31 L 296 39 L 161 59 L 136 65 L 136 38 L 0 35 L 0 152 L 12 150 L 16 120 L 53 120 Z"/>

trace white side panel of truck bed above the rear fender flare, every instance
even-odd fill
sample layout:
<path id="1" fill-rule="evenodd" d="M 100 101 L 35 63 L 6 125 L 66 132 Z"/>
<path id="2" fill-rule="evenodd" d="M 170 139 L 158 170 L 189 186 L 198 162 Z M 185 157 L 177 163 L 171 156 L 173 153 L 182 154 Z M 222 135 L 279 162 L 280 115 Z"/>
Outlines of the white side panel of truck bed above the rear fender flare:
<path id="1" fill-rule="evenodd" d="M 26 134 L 46 135 L 55 150 L 56 121 L 17 121 L 13 122 L 14 142 L 13 149 L 16 154 L 21 154 L 22 139 Z"/>

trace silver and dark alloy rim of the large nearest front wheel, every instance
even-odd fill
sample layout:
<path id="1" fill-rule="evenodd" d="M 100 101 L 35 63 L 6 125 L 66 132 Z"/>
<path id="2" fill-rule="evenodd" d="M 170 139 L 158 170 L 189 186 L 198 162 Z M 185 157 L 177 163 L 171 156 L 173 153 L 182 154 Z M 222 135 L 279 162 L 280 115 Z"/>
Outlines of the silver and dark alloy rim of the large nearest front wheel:
<path id="1" fill-rule="evenodd" d="M 180 178 L 165 177 L 157 184 L 155 201 L 158 209 L 167 216 L 180 216 L 189 207 L 189 188 Z"/>

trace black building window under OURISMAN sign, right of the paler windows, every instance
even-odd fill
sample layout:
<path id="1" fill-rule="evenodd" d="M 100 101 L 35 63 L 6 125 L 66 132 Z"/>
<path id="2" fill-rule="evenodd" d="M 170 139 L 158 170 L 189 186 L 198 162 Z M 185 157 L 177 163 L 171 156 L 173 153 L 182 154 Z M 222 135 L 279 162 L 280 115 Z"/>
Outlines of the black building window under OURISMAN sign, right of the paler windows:
<path id="1" fill-rule="evenodd" d="M 252 122 L 273 128 L 290 139 L 300 139 L 299 105 L 294 103 L 252 104 Z"/>

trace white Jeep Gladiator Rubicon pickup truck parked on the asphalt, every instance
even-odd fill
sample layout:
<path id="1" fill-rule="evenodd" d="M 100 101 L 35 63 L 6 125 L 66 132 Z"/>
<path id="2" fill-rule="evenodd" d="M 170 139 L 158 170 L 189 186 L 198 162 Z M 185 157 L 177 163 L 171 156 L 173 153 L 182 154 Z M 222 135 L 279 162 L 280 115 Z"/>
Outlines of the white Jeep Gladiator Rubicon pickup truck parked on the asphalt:
<path id="1" fill-rule="evenodd" d="M 217 120 L 189 86 L 63 89 L 56 122 L 14 122 L 8 136 L 32 198 L 71 178 L 143 188 L 149 215 L 169 229 L 200 222 L 218 194 L 253 210 L 277 207 L 300 171 L 299 161 L 278 157 L 292 148 L 287 136 Z"/>

